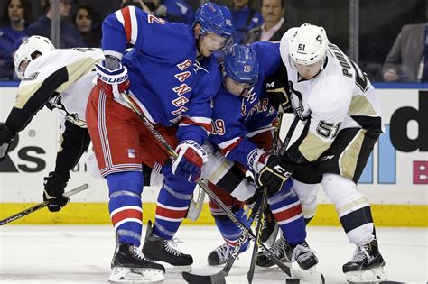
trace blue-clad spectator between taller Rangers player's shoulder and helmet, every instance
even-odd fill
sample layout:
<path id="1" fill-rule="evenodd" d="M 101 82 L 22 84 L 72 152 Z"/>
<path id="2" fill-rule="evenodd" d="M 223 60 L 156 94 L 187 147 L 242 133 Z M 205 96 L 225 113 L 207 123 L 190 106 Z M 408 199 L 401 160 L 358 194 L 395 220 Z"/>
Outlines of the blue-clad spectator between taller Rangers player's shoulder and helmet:
<path id="1" fill-rule="evenodd" d="M 168 22 L 193 23 L 194 11 L 183 0 L 144 0 L 143 2 L 152 14 Z"/>

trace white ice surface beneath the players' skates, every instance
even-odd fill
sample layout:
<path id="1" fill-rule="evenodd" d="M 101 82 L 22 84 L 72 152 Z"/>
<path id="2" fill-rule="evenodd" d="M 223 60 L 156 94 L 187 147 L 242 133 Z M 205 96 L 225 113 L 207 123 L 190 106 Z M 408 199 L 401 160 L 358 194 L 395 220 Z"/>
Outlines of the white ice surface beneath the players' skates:
<path id="1" fill-rule="evenodd" d="M 341 265 L 350 260 L 354 246 L 342 229 L 312 226 L 308 231 L 326 282 L 345 282 Z M 222 243 L 214 227 L 182 226 L 176 236 L 183 242 L 178 249 L 193 256 L 193 271 L 210 274 L 220 269 L 206 261 L 208 253 Z M 428 281 L 427 229 L 377 227 L 377 238 L 390 280 Z M 113 250 L 114 233 L 107 225 L 5 225 L 0 228 L 0 283 L 107 283 Z M 227 283 L 247 282 L 250 255 L 250 251 L 241 254 Z M 164 283 L 185 283 L 180 273 L 166 268 Z M 284 274 L 256 270 L 254 283 L 284 283 Z"/>

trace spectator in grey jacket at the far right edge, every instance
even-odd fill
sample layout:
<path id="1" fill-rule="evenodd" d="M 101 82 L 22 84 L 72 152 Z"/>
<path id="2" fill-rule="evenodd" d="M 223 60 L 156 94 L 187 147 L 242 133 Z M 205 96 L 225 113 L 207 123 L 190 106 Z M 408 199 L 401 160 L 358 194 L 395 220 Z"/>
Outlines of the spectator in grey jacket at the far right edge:
<path id="1" fill-rule="evenodd" d="M 428 25 L 405 24 L 386 56 L 387 82 L 428 82 Z"/>

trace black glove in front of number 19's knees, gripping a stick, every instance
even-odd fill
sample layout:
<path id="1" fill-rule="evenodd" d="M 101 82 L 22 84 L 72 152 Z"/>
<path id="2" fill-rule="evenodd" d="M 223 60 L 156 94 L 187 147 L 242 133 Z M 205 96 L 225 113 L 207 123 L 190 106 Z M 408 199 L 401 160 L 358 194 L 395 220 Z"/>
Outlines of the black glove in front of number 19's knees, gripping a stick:
<path id="1" fill-rule="evenodd" d="M 290 178 L 292 173 L 284 168 L 278 157 L 268 157 L 265 167 L 256 174 L 256 185 L 258 188 L 267 188 L 269 197 L 274 196 L 284 186 L 284 182 Z"/>

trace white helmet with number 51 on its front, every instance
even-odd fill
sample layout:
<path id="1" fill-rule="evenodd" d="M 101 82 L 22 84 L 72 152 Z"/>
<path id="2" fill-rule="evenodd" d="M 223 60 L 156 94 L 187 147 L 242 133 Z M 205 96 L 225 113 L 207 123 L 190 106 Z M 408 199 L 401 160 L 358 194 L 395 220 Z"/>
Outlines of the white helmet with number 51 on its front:
<path id="1" fill-rule="evenodd" d="M 289 54 L 294 63 L 310 65 L 325 59 L 329 39 L 323 27 L 303 23 L 293 34 Z"/>

